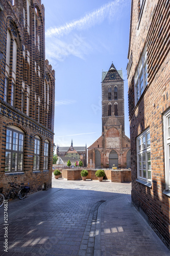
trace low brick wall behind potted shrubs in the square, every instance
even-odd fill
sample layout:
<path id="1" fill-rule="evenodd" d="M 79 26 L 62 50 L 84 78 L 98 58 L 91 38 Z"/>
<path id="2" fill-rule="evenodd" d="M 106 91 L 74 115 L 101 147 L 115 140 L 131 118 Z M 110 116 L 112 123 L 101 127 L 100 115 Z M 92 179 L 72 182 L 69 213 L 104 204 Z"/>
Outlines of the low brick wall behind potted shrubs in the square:
<path id="1" fill-rule="evenodd" d="M 62 178 L 67 180 L 81 180 L 81 170 L 82 169 L 62 169 Z M 95 176 L 97 169 L 87 169 L 88 176 L 87 179 L 98 180 L 98 177 Z M 104 169 L 105 177 L 104 179 L 111 180 L 111 182 L 128 182 L 131 181 L 131 170 L 129 169 Z"/>

